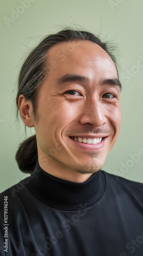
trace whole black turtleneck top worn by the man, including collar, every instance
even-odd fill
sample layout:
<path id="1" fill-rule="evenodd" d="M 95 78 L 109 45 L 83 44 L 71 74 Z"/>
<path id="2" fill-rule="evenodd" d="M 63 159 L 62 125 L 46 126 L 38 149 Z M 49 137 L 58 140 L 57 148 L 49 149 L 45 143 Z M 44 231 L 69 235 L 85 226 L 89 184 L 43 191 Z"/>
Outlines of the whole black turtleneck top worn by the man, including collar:
<path id="1" fill-rule="evenodd" d="M 142 256 L 142 195 L 143 184 L 103 170 L 82 183 L 54 177 L 37 159 L 0 195 L 0 256 Z"/>

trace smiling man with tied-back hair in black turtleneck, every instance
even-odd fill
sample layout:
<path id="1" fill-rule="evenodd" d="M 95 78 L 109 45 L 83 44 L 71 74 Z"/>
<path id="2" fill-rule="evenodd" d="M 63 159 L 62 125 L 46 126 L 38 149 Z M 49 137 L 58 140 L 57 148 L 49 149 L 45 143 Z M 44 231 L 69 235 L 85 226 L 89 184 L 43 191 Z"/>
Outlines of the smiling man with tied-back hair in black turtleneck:
<path id="1" fill-rule="evenodd" d="M 36 136 L 16 160 L 32 175 L 1 194 L 1 255 L 142 256 L 143 185 L 101 170 L 121 88 L 115 58 L 89 32 L 50 35 L 27 57 L 16 101 Z"/>

